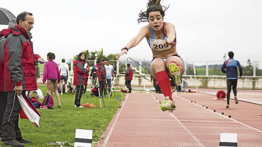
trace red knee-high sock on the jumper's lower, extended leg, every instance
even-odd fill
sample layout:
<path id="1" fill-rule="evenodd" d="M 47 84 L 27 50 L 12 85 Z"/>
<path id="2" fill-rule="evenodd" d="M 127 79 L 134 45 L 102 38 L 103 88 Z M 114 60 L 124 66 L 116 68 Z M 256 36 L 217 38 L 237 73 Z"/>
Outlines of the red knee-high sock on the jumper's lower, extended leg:
<path id="1" fill-rule="evenodd" d="M 172 99 L 170 79 L 166 71 L 160 71 L 156 73 L 157 82 L 165 97 Z"/>

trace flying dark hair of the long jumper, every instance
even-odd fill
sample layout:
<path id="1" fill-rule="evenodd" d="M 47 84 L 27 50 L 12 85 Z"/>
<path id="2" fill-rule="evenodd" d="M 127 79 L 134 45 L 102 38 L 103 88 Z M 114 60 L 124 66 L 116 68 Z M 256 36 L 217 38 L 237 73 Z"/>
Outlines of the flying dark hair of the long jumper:
<path id="1" fill-rule="evenodd" d="M 167 7 L 161 6 L 160 1 L 161 0 L 149 0 L 149 2 L 147 3 L 147 6 L 146 6 L 146 8 L 147 8 L 146 11 L 142 12 L 142 10 L 141 10 L 139 15 L 138 15 L 138 17 L 139 17 L 137 19 L 138 23 L 148 22 L 148 16 L 149 16 L 150 12 L 159 11 L 160 14 L 162 15 L 162 17 L 164 18 L 165 12 L 169 8 L 169 5 Z"/>

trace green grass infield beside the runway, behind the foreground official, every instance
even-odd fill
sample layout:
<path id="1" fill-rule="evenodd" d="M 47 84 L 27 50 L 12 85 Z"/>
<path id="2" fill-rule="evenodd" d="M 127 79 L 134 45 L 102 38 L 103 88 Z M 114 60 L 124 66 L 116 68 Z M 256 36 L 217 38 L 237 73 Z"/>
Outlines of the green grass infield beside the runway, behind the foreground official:
<path id="1" fill-rule="evenodd" d="M 43 93 L 46 93 L 46 86 L 38 87 Z M 93 130 L 93 144 L 96 144 L 101 139 L 101 135 L 121 103 L 121 101 L 116 100 L 116 97 L 121 98 L 121 94 L 116 92 L 116 96 L 112 94 L 110 99 L 104 98 L 105 108 L 74 108 L 75 94 L 63 94 L 60 95 L 62 107 L 57 108 L 57 99 L 55 95 L 52 96 L 54 98 L 53 110 L 38 109 L 41 114 L 39 128 L 35 127 L 29 120 L 19 120 L 23 138 L 33 141 L 32 144 L 26 146 L 46 147 L 46 142 L 55 143 L 56 141 L 74 143 L 75 129 Z M 86 96 L 82 95 L 81 104 L 89 102 L 96 105 L 96 97 L 89 95 L 87 99 Z M 40 99 L 40 102 L 42 101 L 43 99 Z M 99 105 L 99 98 L 97 102 Z"/>

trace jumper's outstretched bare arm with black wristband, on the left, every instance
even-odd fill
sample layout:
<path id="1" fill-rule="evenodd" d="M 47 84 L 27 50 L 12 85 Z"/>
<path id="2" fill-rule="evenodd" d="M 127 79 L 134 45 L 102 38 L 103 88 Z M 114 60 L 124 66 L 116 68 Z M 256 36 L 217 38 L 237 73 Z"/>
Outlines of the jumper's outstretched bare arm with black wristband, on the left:
<path id="1" fill-rule="evenodd" d="M 138 45 L 138 43 L 144 38 L 146 37 L 146 35 L 148 34 L 148 27 L 144 26 L 143 28 L 141 28 L 141 30 L 139 31 L 139 33 L 132 38 L 127 45 L 125 46 L 126 49 L 121 50 L 121 53 L 118 54 L 118 56 L 116 56 L 116 59 L 118 59 L 121 55 L 125 54 L 128 52 L 128 50 L 136 45 Z"/>

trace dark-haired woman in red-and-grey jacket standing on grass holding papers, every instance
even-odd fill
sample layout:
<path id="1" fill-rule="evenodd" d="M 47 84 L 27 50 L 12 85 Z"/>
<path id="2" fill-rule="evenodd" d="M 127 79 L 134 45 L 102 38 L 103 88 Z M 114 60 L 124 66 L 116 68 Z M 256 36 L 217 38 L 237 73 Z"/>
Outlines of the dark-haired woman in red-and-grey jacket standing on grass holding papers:
<path id="1" fill-rule="evenodd" d="M 74 86 L 77 86 L 76 97 L 75 97 L 75 107 L 84 108 L 80 105 L 80 100 L 83 94 L 85 84 L 85 75 L 87 72 L 85 65 L 85 54 L 79 53 L 77 60 L 74 61 Z"/>

